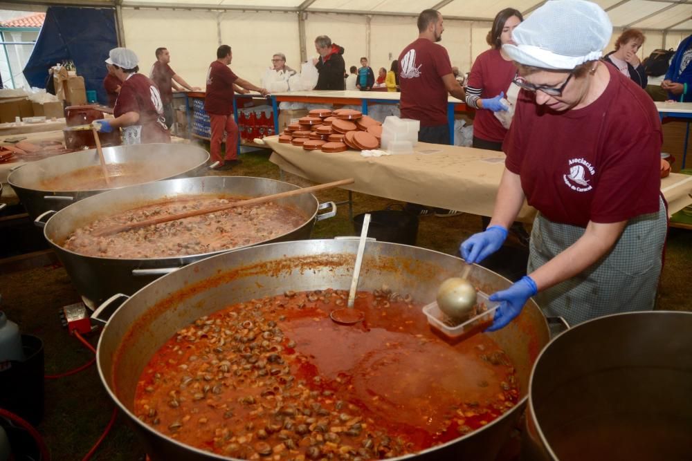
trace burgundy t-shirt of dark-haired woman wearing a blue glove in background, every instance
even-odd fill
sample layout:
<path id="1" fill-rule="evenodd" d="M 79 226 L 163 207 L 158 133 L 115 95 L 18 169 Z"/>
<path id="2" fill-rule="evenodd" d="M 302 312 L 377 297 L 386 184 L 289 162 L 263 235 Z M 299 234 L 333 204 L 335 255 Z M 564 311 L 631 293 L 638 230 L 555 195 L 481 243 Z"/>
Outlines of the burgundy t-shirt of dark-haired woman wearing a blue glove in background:
<path id="1" fill-rule="evenodd" d="M 517 73 L 517 68 L 511 61 L 502 59 L 500 50 L 487 50 L 478 55 L 471 73 L 468 74 L 468 86 L 482 88 L 480 97 L 495 97 L 507 89 Z M 473 118 L 473 135 L 486 141 L 502 142 L 507 130 L 493 111 L 477 110 Z"/>

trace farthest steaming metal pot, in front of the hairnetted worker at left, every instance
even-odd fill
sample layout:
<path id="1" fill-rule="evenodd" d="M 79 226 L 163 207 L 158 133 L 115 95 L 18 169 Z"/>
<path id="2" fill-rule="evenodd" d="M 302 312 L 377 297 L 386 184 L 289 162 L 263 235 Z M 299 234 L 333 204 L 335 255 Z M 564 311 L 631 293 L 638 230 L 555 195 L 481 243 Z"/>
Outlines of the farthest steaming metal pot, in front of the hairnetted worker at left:
<path id="1" fill-rule="evenodd" d="M 190 144 L 134 144 L 104 147 L 107 163 L 141 165 L 149 173 L 147 182 L 199 176 L 209 160 L 209 153 Z M 82 198 L 111 189 L 52 191 L 42 186 L 45 180 L 99 164 L 95 149 L 65 153 L 21 165 L 8 176 L 29 216 L 37 218 L 48 210 L 58 210 Z"/>

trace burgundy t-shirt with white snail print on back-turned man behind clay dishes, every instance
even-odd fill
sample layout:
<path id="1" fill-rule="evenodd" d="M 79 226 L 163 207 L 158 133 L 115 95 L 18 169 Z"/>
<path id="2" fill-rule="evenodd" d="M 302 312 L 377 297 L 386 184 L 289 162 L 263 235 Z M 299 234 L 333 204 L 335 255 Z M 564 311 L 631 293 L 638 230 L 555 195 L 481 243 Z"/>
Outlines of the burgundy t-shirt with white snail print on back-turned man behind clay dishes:
<path id="1" fill-rule="evenodd" d="M 447 89 L 442 76 L 452 73 L 447 50 L 428 39 L 417 39 L 399 55 L 401 117 L 421 126 L 447 124 Z"/>

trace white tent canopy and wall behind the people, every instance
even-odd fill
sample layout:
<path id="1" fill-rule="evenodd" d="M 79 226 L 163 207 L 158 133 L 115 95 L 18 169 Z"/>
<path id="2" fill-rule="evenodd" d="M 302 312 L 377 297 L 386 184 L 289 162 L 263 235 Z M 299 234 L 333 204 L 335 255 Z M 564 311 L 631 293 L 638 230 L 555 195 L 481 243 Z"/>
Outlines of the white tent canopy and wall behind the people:
<path id="1" fill-rule="evenodd" d="M 248 4 L 252 3 L 252 4 Z M 538 0 L 10 0 L 0 8 L 45 10 L 46 6 L 115 8 L 120 41 L 140 57 L 147 73 L 154 50 L 165 46 L 171 66 L 190 84 L 203 86 L 206 69 L 220 44 L 233 47 L 231 68 L 259 83 L 271 55 L 281 52 L 287 64 L 316 56 L 313 40 L 329 35 L 345 48 L 348 66 L 361 56 L 370 65 L 389 68 L 418 31 L 415 18 L 435 8 L 444 17 L 441 44 L 462 72 L 488 48 L 491 21 L 503 8 L 525 15 L 541 6 Z M 676 48 L 692 33 L 692 0 L 596 0 L 610 16 L 614 40 L 626 28 L 644 30 L 641 57 L 655 48 Z"/>

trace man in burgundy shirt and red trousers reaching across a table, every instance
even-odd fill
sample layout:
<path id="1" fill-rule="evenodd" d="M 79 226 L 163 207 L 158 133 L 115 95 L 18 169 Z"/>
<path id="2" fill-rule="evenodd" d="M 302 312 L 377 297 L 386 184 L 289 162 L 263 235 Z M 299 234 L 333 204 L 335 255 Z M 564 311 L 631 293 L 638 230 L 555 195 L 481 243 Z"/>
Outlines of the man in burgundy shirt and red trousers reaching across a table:
<path id="1" fill-rule="evenodd" d="M 230 46 L 221 45 L 217 49 L 217 60 L 212 62 L 207 71 L 207 94 L 204 98 L 204 110 L 209 114 L 212 140 L 210 154 L 213 161 L 219 162 L 217 169 L 231 169 L 238 160 L 238 126 L 233 120 L 234 86 L 246 90 L 258 91 L 262 96 L 266 89 L 255 86 L 244 80 L 228 68 L 233 60 Z M 221 157 L 221 141 L 226 131 L 226 157 Z"/>

